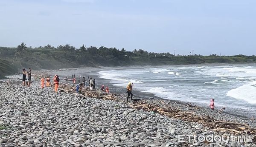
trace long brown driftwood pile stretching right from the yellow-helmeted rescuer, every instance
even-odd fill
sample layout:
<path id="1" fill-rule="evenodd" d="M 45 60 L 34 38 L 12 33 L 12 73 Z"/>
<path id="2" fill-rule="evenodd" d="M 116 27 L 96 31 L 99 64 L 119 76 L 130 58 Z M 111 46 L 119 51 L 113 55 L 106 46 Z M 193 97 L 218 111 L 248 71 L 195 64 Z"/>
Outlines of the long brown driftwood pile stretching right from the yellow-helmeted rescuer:
<path id="1" fill-rule="evenodd" d="M 224 122 L 218 121 L 213 117 L 207 116 L 198 116 L 193 112 L 184 111 L 172 108 L 171 106 L 166 103 L 166 105 L 161 106 L 155 103 L 148 103 L 145 100 L 139 101 L 130 105 L 130 107 L 134 109 L 143 109 L 145 111 L 154 111 L 155 113 L 160 113 L 162 115 L 166 115 L 169 117 L 174 117 L 177 119 L 189 121 L 189 122 L 198 122 L 203 124 L 205 127 L 209 127 L 212 130 L 216 130 L 218 132 L 232 132 L 239 135 L 255 135 L 256 129 L 251 128 L 247 124 L 236 123 L 236 122 Z M 186 105 L 185 107 L 196 107 L 192 106 L 191 104 Z M 224 108 L 221 109 L 223 111 Z"/>

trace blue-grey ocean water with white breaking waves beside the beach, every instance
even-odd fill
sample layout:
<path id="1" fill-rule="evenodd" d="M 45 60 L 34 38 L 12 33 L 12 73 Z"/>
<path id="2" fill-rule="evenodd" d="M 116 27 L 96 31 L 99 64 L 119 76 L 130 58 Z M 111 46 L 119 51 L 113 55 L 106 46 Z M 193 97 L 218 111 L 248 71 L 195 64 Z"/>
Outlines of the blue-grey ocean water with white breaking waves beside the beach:
<path id="1" fill-rule="evenodd" d="M 169 66 L 99 71 L 99 78 L 163 99 L 232 108 L 256 115 L 256 64 Z"/>

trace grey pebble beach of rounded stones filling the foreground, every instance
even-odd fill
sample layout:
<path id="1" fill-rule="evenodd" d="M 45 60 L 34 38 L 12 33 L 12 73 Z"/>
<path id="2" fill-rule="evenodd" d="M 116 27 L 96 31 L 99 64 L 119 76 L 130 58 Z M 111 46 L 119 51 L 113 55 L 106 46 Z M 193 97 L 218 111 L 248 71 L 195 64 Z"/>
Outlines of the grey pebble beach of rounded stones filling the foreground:
<path id="1" fill-rule="evenodd" d="M 125 95 L 119 95 L 120 101 L 114 102 L 76 93 L 55 93 L 53 88 L 40 88 L 39 80 L 34 80 L 30 88 L 17 82 L 0 83 L 1 147 L 256 147 L 251 142 L 201 142 L 194 138 L 189 141 L 187 136 L 185 142 L 180 142 L 179 135 L 233 134 L 220 134 L 198 122 L 133 109 L 129 106 L 132 102 L 124 101 Z M 176 102 L 170 105 L 256 127 L 250 118 L 184 107 Z"/>

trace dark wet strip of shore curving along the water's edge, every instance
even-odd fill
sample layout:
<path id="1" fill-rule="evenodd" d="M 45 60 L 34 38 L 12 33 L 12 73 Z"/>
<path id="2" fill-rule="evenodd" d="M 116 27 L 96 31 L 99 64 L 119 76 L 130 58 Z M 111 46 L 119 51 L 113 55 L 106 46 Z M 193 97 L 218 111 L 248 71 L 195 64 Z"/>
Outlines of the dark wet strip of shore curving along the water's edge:
<path id="1" fill-rule="evenodd" d="M 225 63 L 221 63 L 221 64 L 225 64 Z M 230 64 L 230 63 L 229 63 Z M 232 64 L 232 63 L 231 63 Z M 237 63 L 233 63 L 233 64 L 237 64 Z M 240 64 L 240 63 L 239 63 Z M 245 63 L 241 63 L 241 64 L 245 64 Z M 207 63 L 207 64 L 193 64 L 193 65 L 219 65 L 219 63 L 215 64 L 215 63 Z M 118 94 L 124 94 L 125 92 L 121 92 L 121 88 L 118 86 L 114 86 L 113 83 L 109 82 L 110 79 L 103 79 L 100 78 L 98 75 L 99 71 L 108 71 L 108 70 L 120 70 L 120 69 L 125 69 L 125 68 L 130 68 L 130 69 L 137 69 L 137 68 L 157 68 L 157 67 L 169 67 L 169 66 L 173 66 L 173 65 L 161 65 L 161 66 L 118 66 L 118 67 L 102 67 L 102 66 L 98 66 L 98 67 L 83 67 L 83 68 L 64 68 L 64 69 L 58 69 L 58 70 L 40 70 L 40 71 L 33 71 L 34 74 L 44 74 L 44 75 L 54 75 L 55 73 L 58 73 L 59 76 L 61 77 L 61 81 L 63 82 L 63 78 L 65 77 L 65 75 L 71 75 L 72 73 L 75 73 L 76 76 L 78 76 L 79 74 L 84 74 L 86 73 L 86 80 L 87 80 L 87 76 L 90 77 L 95 77 L 98 79 L 98 81 L 96 81 L 96 87 L 100 88 L 100 86 L 102 84 L 98 84 L 99 82 L 101 83 L 108 83 L 107 85 L 112 85 L 112 89 L 111 92 L 113 93 L 118 93 Z M 175 66 L 179 66 L 179 65 L 175 65 Z M 188 65 L 190 66 L 190 65 Z M 16 77 L 16 75 L 11 75 L 10 77 Z M 19 76 L 18 76 L 19 77 Z M 15 79 L 21 79 L 21 78 L 15 78 Z M 99 80 L 100 79 L 100 80 Z M 78 81 L 78 80 L 77 80 Z M 65 82 L 65 81 L 64 81 Z M 88 84 L 88 82 L 87 82 Z M 165 101 L 169 101 L 172 103 L 180 103 L 182 105 L 187 105 L 188 103 L 191 103 L 192 105 L 196 105 L 197 107 L 200 107 L 201 109 L 208 109 L 207 107 L 205 107 L 205 104 L 200 104 L 200 103 L 195 103 L 195 102 L 185 102 L 185 101 L 179 101 L 179 100 L 172 100 L 172 99 L 165 99 L 165 98 L 161 98 L 159 96 L 155 96 L 153 93 L 145 93 L 139 90 L 133 90 L 134 91 L 134 96 L 137 96 L 137 98 L 140 99 L 159 99 L 159 100 L 165 100 Z M 126 93 L 125 93 L 126 94 Z M 208 104 L 207 104 L 208 105 Z M 222 107 L 215 107 L 215 110 L 220 110 Z M 248 115 L 246 113 L 246 111 L 241 111 L 241 110 L 236 110 L 236 109 L 226 109 L 224 110 L 223 113 L 227 113 L 229 115 L 233 115 L 233 116 L 237 116 L 237 117 L 241 117 L 241 118 L 251 118 L 254 117 L 253 115 Z M 246 115 L 247 114 L 247 115 Z"/>

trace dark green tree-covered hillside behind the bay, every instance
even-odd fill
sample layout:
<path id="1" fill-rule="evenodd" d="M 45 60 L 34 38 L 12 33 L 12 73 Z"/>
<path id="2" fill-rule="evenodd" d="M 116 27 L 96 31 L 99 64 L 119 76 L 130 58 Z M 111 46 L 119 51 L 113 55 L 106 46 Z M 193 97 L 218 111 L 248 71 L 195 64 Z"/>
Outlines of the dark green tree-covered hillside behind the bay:
<path id="1" fill-rule="evenodd" d="M 201 63 L 231 63 L 231 62 L 255 62 L 256 57 L 237 55 L 231 57 L 189 55 L 174 56 L 169 53 L 148 53 L 142 49 L 125 51 L 124 48 L 86 48 L 82 45 L 75 48 L 69 44 L 59 45 L 57 48 L 51 45 L 38 48 L 27 48 L 25 43 L 17 48 L 0 47 L 0 60 L 2 63 L 1 75 L 14 73 L 22 68 L 59 69 L 78 68 L 82 66 L 125 66 L 125 65 L 184 65 Z M 11 64 L 12 63 L 12 64 Z M 6 67 L 10 67 L 7 69 Z"/>

